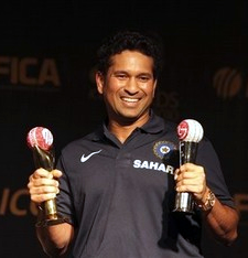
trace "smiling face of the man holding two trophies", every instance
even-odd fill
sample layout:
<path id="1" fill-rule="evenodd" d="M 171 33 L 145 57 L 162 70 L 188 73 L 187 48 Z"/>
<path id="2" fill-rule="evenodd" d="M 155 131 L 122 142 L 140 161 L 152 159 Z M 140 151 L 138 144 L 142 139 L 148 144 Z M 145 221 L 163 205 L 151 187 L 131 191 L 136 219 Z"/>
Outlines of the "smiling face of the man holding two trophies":
<path id="1" fill-rule="evenodd" d="M 136 51 L 123 51 L 111 61 L 106 77 L 96 76 L 109 119 L 125 123 L 148 119 L 157 84 L 153 60 Z"/>

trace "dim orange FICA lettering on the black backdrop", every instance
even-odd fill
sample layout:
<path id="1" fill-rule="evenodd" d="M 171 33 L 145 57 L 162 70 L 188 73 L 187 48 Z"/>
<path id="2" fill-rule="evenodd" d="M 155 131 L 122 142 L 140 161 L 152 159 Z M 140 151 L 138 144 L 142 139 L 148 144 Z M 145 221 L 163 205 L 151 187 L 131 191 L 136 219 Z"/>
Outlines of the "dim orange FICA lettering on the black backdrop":
<path id="1" fill-rule="evenodd" d="M 0 86 L 61 86 L 54 58 L 0 56 Z"/>

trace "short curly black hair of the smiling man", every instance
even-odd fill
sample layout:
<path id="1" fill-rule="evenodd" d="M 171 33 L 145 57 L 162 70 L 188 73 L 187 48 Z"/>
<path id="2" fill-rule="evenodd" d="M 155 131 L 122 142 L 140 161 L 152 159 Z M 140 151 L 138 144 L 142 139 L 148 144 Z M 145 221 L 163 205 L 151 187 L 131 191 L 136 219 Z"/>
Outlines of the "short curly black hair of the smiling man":
<path id="1" fill-rule="evenodd" d="M 138 51 L 153 58 L 153 76 L 158 78 L 163 66 L 163 51 L 158 39 L 138 31 L 119 31 L 106 37 L 97 51 L 97 71 L 104 75 L 111 65 L 111 56 L 121 52 Z"/>

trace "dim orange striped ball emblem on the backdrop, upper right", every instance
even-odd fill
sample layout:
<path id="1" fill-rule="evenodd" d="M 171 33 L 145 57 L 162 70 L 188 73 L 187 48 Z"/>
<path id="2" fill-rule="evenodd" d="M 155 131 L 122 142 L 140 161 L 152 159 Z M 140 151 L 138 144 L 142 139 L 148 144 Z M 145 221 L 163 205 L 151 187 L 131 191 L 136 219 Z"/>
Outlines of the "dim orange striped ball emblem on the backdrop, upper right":
<path id="1" fill-rule="evenodd" d="M 217 95 L 224 99 L 233 98 L 240 92 L 248 97 L 248 82 L 244 79 L 238 69 L 231 67 L 218 69 L 214 75 L 213 84 Z"/>

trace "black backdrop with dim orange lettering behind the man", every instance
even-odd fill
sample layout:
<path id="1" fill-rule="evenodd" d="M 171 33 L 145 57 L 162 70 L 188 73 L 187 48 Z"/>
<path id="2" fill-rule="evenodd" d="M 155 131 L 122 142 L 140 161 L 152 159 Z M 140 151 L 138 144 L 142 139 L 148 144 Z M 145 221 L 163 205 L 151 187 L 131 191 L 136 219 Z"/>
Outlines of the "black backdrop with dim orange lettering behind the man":
<path id="1" fill-rule="evenodd" d="M 247 3 L 239 1 L 6 1 L 0 7 L 0 257 L 45 257 L 35 238 L 26 183 L 28 131 L 47 127 L 56 154 L 104 114 L 95 51 L 116 30 L 139 29 L 165 46 L 154 108 L 194 118 L 214 143 L 240 209 L 239 238 L 225 248 L 204 237 L 206 257 L 246 257 Z"/>

